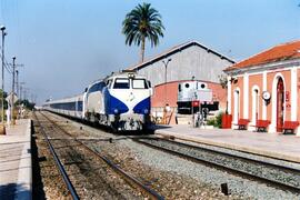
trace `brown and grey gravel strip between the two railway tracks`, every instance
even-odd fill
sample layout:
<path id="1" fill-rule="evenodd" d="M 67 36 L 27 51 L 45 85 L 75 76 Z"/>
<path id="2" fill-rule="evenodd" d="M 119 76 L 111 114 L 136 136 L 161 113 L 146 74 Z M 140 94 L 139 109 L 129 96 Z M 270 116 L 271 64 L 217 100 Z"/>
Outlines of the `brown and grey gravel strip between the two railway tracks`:
<path id="1" fill-rule="evenodd" d="M 57 117 L 60 118 L 60 117 Z M 109 142 L 89 142 L 97 150 L 107 151 L 122 168 L 133 174 L 141 174 L 144 181 L 158 189 L 167 199 L 299 199 L 300 196 L 228 174 L 209 167 L 193 163 L 176 156 L 170 156 L 123 136 L 113 136 L 77 122 L 77 129 L 83 127 L 80 136 L 93 138 L 118 138 L 113 146 Z M 88 141 L 87 141 L 88 142 Z M 126 160 L 126 162 L 124 162 Z M 220 192 L 220 184 L 227 182 L 231 192 L 226 197 Z"/>

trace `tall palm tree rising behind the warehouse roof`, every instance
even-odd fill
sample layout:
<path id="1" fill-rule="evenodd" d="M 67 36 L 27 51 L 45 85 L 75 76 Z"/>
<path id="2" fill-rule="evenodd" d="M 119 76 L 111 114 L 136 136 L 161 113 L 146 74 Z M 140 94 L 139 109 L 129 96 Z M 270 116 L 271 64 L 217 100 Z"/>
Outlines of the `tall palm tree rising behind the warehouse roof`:
<path id="1" fill-rule="evenodd" d="M 144 58 L 146 38 L 150 40 L 151 47 L 158 46 L 159 37 L 163 37 L 164 27 L 159 12 L 151 8 L 150 3 L 138 4 L 127 13 L 122 22 L 122 33 L 126 36 L 126 44 L 141 44 L 140 61 Z"/>

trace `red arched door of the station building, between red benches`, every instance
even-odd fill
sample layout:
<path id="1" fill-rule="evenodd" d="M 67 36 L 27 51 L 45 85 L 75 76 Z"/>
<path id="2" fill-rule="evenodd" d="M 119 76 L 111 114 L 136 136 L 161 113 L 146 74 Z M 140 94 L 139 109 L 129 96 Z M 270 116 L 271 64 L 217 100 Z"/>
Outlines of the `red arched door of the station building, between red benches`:
<path id="1" fill-rule="evenodd" d="M 277 132 L 282 132 L 284 111 L 284 86 L 282 78 L 277 83 Z"/>

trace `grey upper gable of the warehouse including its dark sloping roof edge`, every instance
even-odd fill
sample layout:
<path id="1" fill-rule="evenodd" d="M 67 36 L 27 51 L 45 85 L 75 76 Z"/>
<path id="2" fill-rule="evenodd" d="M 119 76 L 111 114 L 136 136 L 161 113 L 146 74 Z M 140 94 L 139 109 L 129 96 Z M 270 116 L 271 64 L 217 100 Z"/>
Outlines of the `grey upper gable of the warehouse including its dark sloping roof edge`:
<path id="1" fill-rule="evenodd" d="M 168 62 L 169 59 L 171 60 Z M 130 69 L 146 76 L 152 86 L 158 86 L 170 81 L 190 80 L 192 77 L 196 80 L 219 82 L 218 76 L 233 63 L 233 60 L 217 51 L 197 41 L 190 41 Z"/>

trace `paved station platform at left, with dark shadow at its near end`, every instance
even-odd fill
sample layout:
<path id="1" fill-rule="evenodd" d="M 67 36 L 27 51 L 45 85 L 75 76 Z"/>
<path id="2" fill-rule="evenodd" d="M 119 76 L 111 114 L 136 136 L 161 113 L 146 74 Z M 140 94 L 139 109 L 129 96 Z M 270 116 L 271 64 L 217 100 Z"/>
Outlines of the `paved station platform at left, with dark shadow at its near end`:
<path id="1" fill-rule="evenodd" d="M 32 198 L 31 121 L 16 123 L 0 136 L 0 199 Z"/>

